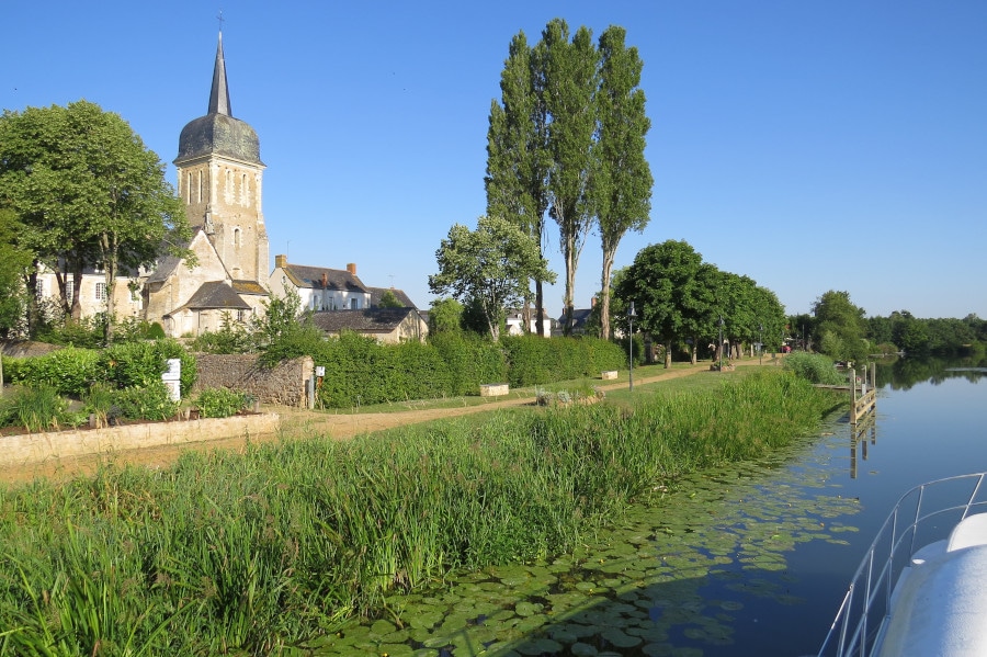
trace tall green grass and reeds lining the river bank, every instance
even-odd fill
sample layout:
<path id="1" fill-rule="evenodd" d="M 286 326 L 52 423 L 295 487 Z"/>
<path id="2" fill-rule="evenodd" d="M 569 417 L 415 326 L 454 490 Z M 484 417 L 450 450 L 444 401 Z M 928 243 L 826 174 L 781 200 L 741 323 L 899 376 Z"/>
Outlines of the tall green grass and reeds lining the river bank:
<path id="1" fill-rule="evenodd" d="M 660 484 L 803 433 L 785 374 L 0 491 L 0 655 L 270 654 L 456 567 L 544 558 Z"/>

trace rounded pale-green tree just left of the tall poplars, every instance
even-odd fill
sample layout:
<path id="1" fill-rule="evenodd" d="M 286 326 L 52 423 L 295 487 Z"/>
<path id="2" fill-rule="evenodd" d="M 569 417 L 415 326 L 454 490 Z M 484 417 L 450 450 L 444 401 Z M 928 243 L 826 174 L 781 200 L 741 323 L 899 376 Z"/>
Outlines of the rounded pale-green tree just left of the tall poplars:
<path id="1" fill-rule="evenodd" d="M 454 225 L 435 260 L 439 273 L 429 276 L 429 288 L 478 304 L 494 340 L 500 337 L 503 308 L 524 299 L 529 280 L 555 281 L 531 236 L 498 217 L 480 217 L 476 230 Z"/>

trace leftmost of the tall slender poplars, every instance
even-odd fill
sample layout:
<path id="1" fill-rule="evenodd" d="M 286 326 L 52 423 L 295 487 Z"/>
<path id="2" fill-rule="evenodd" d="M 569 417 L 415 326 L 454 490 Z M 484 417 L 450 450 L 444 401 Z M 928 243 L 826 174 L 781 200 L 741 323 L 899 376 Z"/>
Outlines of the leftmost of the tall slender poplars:
<path id="1" fill-rule="evenodd" d="M 487 131 L 487 216 L 517 224 L 544 256 L 548 209 L 548 116 L 542 94 L 543 76 L 532 61 L 524 32 L 512 39 L 500 75 L 501 102 L 490 102 Z M 534 280 L 537 330 L 544 330 L 544 281 Z M 527 299 L 524 326 L 531 326 Z"/>

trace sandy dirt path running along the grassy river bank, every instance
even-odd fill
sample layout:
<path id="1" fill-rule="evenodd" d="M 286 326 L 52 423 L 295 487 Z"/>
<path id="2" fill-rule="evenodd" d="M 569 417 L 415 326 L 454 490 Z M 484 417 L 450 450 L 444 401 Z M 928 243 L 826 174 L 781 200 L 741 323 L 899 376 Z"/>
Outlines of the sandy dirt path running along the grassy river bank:
<path id="1" fill-rule="evenodd" d="M 764 363 L 771 361 L 764 359 Z M 735 365 L 757 365 L 758 360 L 744 358 L 734 361 Z M 701 372 L 708 372 L 710 363 L 700 362 L 688 367 L 677 367 L 674 370 L 658 369 L 650 366 L 642 371 L 635 371 L 635 384 L 645 385 L 659 381 L 668 381 L 682 376 L 691 376 Z M 645 373 L 647 372 L 647 373 Z M 651 374 L 651 372 L 657 372 Z M 602 384 L 598 387 L 604 390 L 623 388 L 627 385 L 624 381 Z M 476 412 L 486 412 L 499 408 L 508 408 L 514 406 L 525 406 L 534 404 L 533 397 L 512 397 L 503 400 L 490 400 L 486 404 L 477 406 L 464 406 L 462 408 L 429 408 L 420 410 L 406 410 L 395 412 L 362 412 L 362 414 L 331 414 L 325 411 L 311 411 L 306 409 L 291 408 L 284 406 L 269 407 L 265 410 L 277 412 L 281 415 L 281 431 L 276 433 L 264 433 L 258 435 L 239 437 L 232 439 L 204 441 L 197 443 L 185 443 L 182 445 L 164 445 L 160 448 L 150 448 L 143 450 L 126 450 L 114 454 L 93 454 L 89 456 L 80 456 L 73 458 L 55 458 L 44 463 L 22 465 L 15 468 L 0 468 L 0 483 L 26 483 L 35 478 L 64 478 L 76 475 L 90 474 L 97 469 L 100 463 L 112 460 L 115 463 L 144 465 L 147 467 L 159 468 L 164 467 L 175 461 L 180 454 L 189 450 L 211 451 L 211 450 L 235 450 L 240 451 L 249 442 L 264 443 L 276 442 L 279 440 L 290 439 L 298 440 L 313 438 L 317 435 L 330 435 L 337 439 L 347 439 L 361 433 L 373 431 L 382 431 L 384 429 L 393 429 L 416 424 L 419 422 L 428 422 L 442 418 L 453 418 Z"/>

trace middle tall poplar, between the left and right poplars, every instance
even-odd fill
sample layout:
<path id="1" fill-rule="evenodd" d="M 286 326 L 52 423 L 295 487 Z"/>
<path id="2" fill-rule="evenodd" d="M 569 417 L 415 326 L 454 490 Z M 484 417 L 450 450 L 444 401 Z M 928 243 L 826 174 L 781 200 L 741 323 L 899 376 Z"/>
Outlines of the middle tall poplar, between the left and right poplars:
<path id="1" fill-rule="evenodd" d="M 566 263 L 563 297 L 566 317 L 563 332 L 572 330 L 576 270 L 592 227 L 588 194 L 591 152 L 595 134 L 595 91 L 599 54 L 592 33 L 580 27 L 569 42 L 569 27 L 555 19 L 535 46 L 536 66 L 544 77 L 543 99 L 548 113 L 548 214 L 558 224 L 559 245 Z"/>

